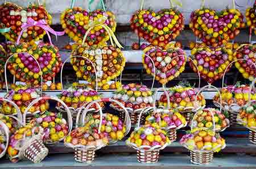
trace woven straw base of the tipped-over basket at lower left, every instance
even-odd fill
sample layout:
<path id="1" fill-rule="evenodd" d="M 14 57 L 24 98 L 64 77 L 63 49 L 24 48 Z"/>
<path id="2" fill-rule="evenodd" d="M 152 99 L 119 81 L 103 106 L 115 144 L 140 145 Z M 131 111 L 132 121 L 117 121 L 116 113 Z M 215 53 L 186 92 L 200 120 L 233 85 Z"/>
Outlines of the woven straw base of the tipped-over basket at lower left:
<path id="1" fill-rule="evenodd" d="M 24 157 L 33 163 L 40 163 L 48 155 L 42 140 L 34 140 L 24 151 Z"/>

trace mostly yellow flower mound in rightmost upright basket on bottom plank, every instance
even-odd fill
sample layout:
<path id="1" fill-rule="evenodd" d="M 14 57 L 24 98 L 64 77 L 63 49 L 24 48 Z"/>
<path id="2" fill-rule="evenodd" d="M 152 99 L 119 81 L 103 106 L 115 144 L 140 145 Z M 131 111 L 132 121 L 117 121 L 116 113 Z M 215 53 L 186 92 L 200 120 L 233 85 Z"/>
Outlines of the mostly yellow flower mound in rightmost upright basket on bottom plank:
<path id="1" fill-rule="evenodd" d="M 202 128 L 192 129 L 190 133 L 185 134 L 180 144 L 188 150 L 199 152 L 218 152 L 226 146 L 220 134 Z"/>

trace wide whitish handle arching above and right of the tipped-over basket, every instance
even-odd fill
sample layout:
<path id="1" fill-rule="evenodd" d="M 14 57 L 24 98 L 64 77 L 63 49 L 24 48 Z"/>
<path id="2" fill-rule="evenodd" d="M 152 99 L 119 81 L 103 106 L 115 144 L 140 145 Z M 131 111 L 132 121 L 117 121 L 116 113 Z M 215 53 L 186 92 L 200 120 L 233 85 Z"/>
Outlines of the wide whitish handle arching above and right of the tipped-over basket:
<path id="1" fill-rule="evenodd" d="M 26 110 L 24 111 L 23 113 L 23 124 L 26 125 L 26 115 L 27 115 L 27 112 L 28 110 L 35 104 L 35 103 L 38 103 L 40 100 L 55 100 L 59 103 L 61 103 L 63 105 L 63 107 L 66 109 L 67 111 L 67 115 L 68 115 L 68 126 L 69 126 L 69 129 L 68 129 L 68 133 L 71 132 L 72 130 L 72 114 L 71 114 L 71 111 L 70 109 L 68 108 L 68 106 L 62 101 L 60 100 L 59 98 L 56 98 L 56 97 L 53 97 L 53 96 L 43 96 L 43 97 L 40 97 L 38 99 L 35 99 L 33 100 L 29 105 L 28 107 L 26 108 Z"/>

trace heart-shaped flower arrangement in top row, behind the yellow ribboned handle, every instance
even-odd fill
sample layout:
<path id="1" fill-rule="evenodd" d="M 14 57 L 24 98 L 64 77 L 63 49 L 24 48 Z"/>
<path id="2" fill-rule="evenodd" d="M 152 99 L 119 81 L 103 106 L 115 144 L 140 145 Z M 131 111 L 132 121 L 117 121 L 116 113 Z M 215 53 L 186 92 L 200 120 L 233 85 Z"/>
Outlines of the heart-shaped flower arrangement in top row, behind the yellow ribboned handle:
<path id="1" fill-rule="evenodd" d="M 73 7 L 73 9 L 67 9 L 61 14 L 60 23 L 65 33 L 75 42 L 81 44 L 82 37 L 84 37 L 93 22 L 105 24 L 114 32 L 115 27 L 117 27 L 117 23 L 114 19 L 115 16 L 110 11 L 97 9 L 88 12 L 81 7 Z M 88 45 L 98 45 L 104 44 L 108 40 L 109 35 L 105 29 L 101 26 L 97 26 L 89 32 L 86 43 Z"/>

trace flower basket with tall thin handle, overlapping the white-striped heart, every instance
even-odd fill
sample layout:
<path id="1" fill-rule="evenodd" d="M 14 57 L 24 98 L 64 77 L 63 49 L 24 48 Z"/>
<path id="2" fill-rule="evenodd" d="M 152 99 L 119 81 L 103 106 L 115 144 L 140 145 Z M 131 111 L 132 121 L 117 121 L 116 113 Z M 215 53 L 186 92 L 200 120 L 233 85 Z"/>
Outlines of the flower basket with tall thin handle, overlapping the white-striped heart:
<path id="1" fill-rule="evenodd" d="M 61 71 L 60 71 L 61 88 L 63 88 L 64 65 L 69 59 L 72 59 L 72 58 L 82 58 L 82 61 L 89 62 L 94 69 L 96 79 L 98 79 L 96 67 L 93 65 L 92 61 L 82 56 L 71 56 L 70 58 L 67 58 L 67 60 L 63 62 L 63 66 L 61 67 Z M 63 100 L 63 102 L 68 105 L 69 110 L 72 113 L 73 123 L 75 124 L 77 113 L 79 111 L 80 112 L 82 111 L 82 107 L 88 104 L 89 102 L 92 102 L 93 100 L 100 99 L 100 94 L 98 94 L 98 80 L 96 80 L 96 90 L 92 90 L 90 88 L 85 88 L 85 87 L 72 86 L 72 87 L 69 87 L 67 90 L 63 90 L 59 95 L 59 99 Z M 102 107 L 104 107 L 103 102 L 100 104 Z M 60 112 L 65 112 L 65 108 L 61 104 L 58 104 L 56 108 Z M 90 107 L 90 112 L 97 112 L 97 111 L 98 109 L 96 105 L 92 105 L 92 107 Z"/>

